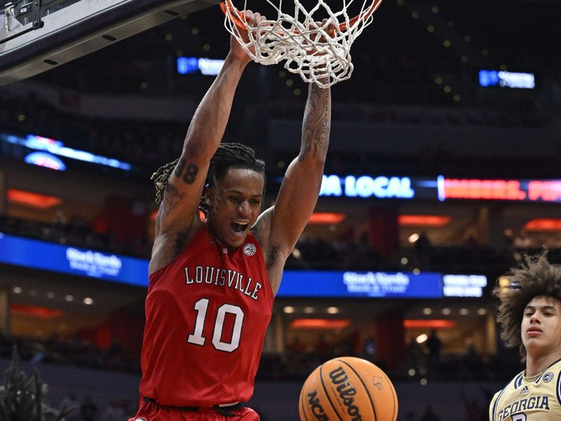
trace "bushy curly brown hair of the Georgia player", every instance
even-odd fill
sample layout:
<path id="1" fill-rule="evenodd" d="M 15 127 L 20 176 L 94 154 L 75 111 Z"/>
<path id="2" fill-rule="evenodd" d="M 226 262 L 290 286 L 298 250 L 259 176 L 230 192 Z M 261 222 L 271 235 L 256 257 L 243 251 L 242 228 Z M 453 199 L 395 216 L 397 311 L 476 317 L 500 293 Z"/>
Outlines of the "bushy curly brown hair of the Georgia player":
<path id="1" fill-rule="evenodd" d="M 534 297 L 546 295 L 561 301 L 561 265 L 548 261 L 548 252 L 525 256 L 520 267 L 512 268 L 506 276 L 508 289 L 496 286 L 493 295 L 501 300 L 496 319 L 501 323 L 501 339 L 508 347 L 519 347 L 522 362 L 526 361 L 526 348 L 520 337 L 524 309 Z"/>

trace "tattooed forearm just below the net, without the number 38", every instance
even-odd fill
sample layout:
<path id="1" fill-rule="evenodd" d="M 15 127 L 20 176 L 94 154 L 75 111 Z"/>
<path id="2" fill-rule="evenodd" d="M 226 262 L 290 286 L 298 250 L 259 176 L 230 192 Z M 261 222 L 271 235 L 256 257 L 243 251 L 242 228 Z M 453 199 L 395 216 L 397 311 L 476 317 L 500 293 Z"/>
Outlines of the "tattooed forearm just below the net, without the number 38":
<path id="1" fill-rule="evenodd" d="M 331 90 L 311 83 L 302 127 L 302 147 L 298 156 L 303 161 L 306 155 L 313 158 L 325 156 L 331 128 Z"/>

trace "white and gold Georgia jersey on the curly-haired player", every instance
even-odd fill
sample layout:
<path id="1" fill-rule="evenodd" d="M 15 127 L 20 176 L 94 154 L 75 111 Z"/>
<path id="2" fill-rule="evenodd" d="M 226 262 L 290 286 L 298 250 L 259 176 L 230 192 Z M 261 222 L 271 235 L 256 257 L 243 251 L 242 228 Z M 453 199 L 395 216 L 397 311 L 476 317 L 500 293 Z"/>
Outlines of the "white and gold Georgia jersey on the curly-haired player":
<path id="1" fill-rule="evenodd" d="M 493 396 L 489 421 L 561 421 L 561 360 L 538 375 L 516 375 Z"/>

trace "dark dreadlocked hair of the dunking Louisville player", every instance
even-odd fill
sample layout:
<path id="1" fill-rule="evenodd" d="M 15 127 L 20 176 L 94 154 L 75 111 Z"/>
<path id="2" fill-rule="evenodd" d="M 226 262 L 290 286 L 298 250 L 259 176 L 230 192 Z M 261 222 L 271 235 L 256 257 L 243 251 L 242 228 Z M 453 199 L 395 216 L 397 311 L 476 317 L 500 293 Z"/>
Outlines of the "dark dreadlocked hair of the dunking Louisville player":
<path id="1" fill-rule="evenodd" d="M 179 162 L 179 159 L 166 163 L 151 176 L 151 180 L 154 181 L 156 186 L 156 203 L 158 204 L 163 201 L 165 186 L 168 184 L 168 178 L 170 178 L 170 174 L 177 165 L 177 162 Z M 215 187 L 217 182 L 222 180 L 231 168 L 253 170 L 263 175 L 263 195 L 265 195 L 265 163 L 261 159 L 255 158 L 255 151 L 252 148 L 240 143 L 221 143 L 218 146 L 215 154 L 210 159 L 205 187 Z M 201 203 L 199 203 L 198 207 L 205 214 L 208 213 L 208 206 L 204 201 L 204 197 L 201 197 Z"/>

